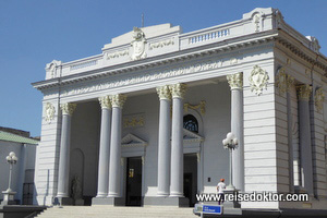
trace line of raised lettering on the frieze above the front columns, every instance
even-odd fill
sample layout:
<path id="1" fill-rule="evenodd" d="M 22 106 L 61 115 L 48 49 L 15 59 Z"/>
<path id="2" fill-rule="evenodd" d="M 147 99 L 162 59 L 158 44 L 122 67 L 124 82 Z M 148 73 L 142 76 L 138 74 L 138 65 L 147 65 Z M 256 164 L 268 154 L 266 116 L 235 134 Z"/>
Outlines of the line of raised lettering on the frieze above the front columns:
<path id="1" fill-rule="evenodd" d="M 153 72 L 150 74 L 148 73 L 145 75 L 136 75 L 123 80 L 104 82 L 101 84 L 94 84 L 90 86 L 80 86 L 71 89 L 68 88 L 65 90 L 62 90 L 61 96 L 78 95 L 88 92 L 104 90 L 104 89 L 114 88 L 114 87 L 120 87 L 125 85 L 138 84 L 138 83 L 144 83 L 149 81 L 157 81 L 157 80 L 162 80 L 162 78 L 168 78 L 168 77 L 173 77 L 173 76 L 179 76 L 184 74 L 192 74 L 202 71 L 219 69 L 221 65 L 222 65 L 221 60 L 217 60 L 217 61 L 210 60 L 204 63 L 195 63 L 192 65 L 184 65 L 177 69 L 167 69 L 164 71 Z"/>

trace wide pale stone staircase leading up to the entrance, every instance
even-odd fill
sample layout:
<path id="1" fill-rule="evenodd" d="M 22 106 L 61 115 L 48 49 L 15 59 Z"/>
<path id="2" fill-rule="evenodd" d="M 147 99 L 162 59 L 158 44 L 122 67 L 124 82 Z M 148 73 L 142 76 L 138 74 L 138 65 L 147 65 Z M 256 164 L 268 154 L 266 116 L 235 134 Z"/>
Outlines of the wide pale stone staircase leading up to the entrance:
<path id="1" fill-rule="evenodd" d="M 63 206 L 44 210 L 37 218 L 196 218 L 193 208 L 178 207 L 112 207 L 112 206 Z"/>

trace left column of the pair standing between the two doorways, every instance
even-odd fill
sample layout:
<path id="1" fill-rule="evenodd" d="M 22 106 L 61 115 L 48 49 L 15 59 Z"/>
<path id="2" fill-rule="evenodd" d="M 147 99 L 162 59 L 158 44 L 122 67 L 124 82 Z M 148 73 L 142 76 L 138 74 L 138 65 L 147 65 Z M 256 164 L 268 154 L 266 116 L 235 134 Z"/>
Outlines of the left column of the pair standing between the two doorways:
<path id="1" fill-rule="evenodd" d="M 160 99 L 158 140 L 158 196 L 169 195 L 170 180 L 170 100 L 169 86 L 157 88 Z"/>

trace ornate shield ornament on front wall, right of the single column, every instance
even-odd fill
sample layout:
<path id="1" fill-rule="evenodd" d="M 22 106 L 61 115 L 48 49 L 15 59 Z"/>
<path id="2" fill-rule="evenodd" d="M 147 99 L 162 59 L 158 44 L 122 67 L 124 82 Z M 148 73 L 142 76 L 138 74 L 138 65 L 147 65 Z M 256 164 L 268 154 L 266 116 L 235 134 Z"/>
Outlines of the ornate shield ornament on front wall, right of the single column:
<path id="1" fill-rule="evenodd" d="M 263 89 L 267 89 L 267 84 L 268 84 L 268 73 L 263 70 L 261 66 L 255 65 L 253 66 L 253 70 L 250 75 L 250 87 L 251 92 L 254 92 L 256 95 L 262 95 Z"/>

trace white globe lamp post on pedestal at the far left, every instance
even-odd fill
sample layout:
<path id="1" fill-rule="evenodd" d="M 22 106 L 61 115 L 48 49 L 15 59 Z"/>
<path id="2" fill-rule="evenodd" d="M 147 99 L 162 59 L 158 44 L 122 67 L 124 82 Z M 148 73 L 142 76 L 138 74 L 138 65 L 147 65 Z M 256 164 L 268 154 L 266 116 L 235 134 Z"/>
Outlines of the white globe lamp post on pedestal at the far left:
<path id="1" fill-rule="evenodd" d="M 5 191 L 2 192 L 3 194 L 3 201 L 1 203 L 1 205 L 13 205 L 15 204 L 14 201 L 14 196 L 16 194 L 16 192 L 13 192 L 11 190 L 11 178 L 12 178 L 12 167 L 13 165 L 15 165 L 19 160 L 19 158 L 16 157 L 15 153 L 11 152 L 9 153 L 9 156 L 5 157 L 7 162 L 9 164 L 9 184 L 8 184 L 8 189 Z"/>

